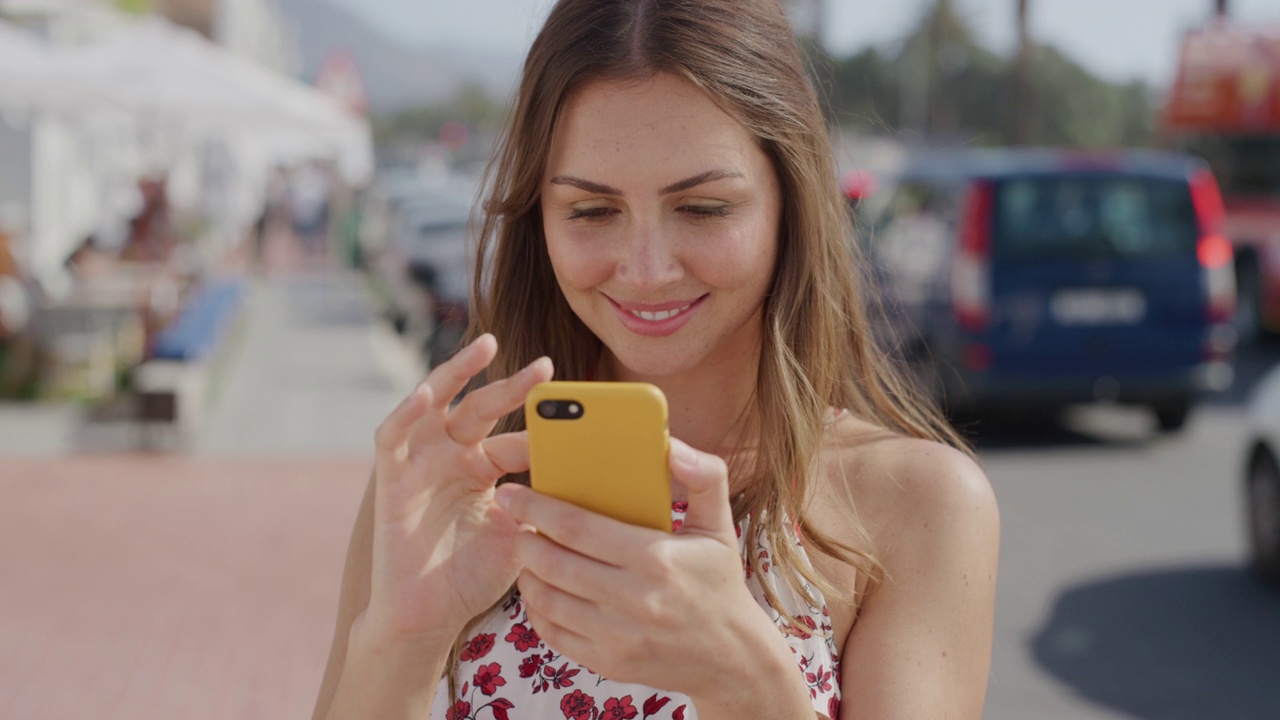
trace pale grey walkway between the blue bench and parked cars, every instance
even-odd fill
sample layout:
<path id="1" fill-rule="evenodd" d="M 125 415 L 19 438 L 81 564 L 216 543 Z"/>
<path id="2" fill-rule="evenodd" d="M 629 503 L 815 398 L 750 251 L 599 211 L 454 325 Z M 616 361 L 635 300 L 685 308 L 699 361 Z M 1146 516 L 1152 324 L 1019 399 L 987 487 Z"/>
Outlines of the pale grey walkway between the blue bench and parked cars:
<path id="1" fill-rule="evenodd" d="M 369 455 L 378 424 L 422 377 L 353 273 L 264 282 L 247 319 L 238 361 L 216 378 L 200 455 Z"/>

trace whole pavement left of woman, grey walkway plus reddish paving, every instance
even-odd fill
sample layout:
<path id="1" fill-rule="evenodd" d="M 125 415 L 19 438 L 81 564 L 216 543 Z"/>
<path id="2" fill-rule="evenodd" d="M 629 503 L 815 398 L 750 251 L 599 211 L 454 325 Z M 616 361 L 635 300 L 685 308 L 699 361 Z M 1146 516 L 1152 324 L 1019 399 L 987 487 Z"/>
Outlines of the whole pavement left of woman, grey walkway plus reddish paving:
<path id="1" fill-rule="evenodd" d="M 188 452 L 0 407 L 0 719 L 310 716 L 372 433 L 420 370 L 353 274 L 247 310 Z"/>

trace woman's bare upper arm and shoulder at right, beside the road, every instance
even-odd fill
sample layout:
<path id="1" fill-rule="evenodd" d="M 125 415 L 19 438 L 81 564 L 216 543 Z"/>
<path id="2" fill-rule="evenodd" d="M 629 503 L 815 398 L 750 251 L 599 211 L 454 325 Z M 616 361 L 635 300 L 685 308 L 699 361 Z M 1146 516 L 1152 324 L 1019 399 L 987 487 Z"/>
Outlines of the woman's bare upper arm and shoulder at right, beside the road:
<path id="1" fill-rule="evenodd" d="M 991 483 L 959 451 L 891 443 L 867 473 L 886 579 L 842 657 L 841 720 L 979 720 L 991 667 L 1000 516 Z"/>

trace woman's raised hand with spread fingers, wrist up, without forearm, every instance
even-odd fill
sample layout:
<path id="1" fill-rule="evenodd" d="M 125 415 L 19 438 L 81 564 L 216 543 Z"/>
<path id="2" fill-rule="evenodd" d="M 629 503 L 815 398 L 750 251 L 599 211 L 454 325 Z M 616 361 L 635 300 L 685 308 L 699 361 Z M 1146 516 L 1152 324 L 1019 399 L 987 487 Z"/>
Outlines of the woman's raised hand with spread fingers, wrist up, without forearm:
<path id="1" fill-rule="evenodd" d="M 539 359 L 451 407 L 497 348 L 481 336 L 378 428 L 372 578 L 357 620 L 375 637 L 452 642 L 516 579 L 518 527 L 494 506 L 494 483 L 529 469 L 529 442 L 525 433 L 488 436 L 550 379 L 552 363 Z"/>

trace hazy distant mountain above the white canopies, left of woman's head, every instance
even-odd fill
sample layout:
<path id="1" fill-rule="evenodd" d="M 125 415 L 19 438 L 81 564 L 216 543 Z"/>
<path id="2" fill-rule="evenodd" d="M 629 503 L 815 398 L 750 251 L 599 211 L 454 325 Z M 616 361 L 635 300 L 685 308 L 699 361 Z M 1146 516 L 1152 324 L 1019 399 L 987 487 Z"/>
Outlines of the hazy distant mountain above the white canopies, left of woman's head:
<path id="1" fill-rule="evenodd" d="M 278 0 L 285 31 L 297 37 L 301 74 L 315 81 L 325 58 L 346 51 L 365 81 L 371 114 L 451 99 L 466 83 L 494 97 L 515 86 L 520 58 L 456 47 L 407 47 L 324 0 Z"/>

